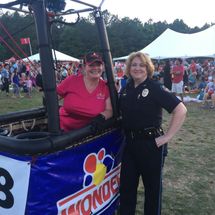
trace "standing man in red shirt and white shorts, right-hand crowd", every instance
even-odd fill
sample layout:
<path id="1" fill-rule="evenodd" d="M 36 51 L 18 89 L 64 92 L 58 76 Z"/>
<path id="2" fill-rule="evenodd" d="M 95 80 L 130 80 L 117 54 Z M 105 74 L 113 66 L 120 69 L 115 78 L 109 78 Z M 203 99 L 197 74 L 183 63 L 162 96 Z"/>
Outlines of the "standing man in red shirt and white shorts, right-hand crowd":
<path id="1" fill-rule="evenodd" d="M 172 89 L 171 91 L 175 95 L 179 95 L 181 101 L 183 102 L 183 77 L 184 77 L 184 66 L 182 65 L 182 59 L 178 58 L 175 61 L 175 65 L 173 66 L 170 74 L 172 75 Z"/>

